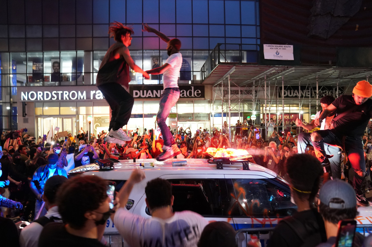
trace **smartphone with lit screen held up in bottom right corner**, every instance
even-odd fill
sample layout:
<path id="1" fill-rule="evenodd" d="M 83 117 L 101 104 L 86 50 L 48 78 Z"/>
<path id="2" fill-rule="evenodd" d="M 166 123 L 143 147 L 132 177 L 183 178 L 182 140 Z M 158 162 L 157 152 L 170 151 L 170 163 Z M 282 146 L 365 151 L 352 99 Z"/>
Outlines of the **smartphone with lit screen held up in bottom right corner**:
<path id="1" fill-rule="evenodd" d="M 352 247 L 354 242 L 356 221 L 346 219 L 339 221 L 339 229 L 336 238 L 336 247 Z"/>

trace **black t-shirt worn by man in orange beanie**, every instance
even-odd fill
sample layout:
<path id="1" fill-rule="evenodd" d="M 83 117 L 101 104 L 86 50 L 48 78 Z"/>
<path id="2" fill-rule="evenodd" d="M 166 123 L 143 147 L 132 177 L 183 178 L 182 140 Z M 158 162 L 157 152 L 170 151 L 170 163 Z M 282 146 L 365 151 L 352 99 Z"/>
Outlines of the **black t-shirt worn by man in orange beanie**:
<path id="1" fill-rule="evenodd" d="M 334 130 L 346 136 L 363 136 L 368 121 L 372 116 L 372 99 L 367 99 L 362 105 L 356 105 L 353 96 L 341 95 L 332 102 L 332 105 L 337 108 L 337 113 L 331 122 Z M 334 120 L 337 115 L 346 111 L 348 111 L 347 114 L 336 121 Z"/>

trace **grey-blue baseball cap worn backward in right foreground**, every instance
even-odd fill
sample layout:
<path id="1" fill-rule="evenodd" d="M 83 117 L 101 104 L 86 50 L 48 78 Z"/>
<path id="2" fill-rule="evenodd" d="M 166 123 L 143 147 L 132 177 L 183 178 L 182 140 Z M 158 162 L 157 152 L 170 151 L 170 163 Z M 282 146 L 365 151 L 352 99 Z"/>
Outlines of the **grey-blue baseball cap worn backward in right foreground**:
<path id="1" fill-rule="evenodd" d="M 319 191 L 319 199 L 329 208 L 347 209 L 356 207 L 354 188 L 345 181 L 335 179 L 323 184 Z M 344 202 L 334 203 L 331 199 L 341 199 Z"/>

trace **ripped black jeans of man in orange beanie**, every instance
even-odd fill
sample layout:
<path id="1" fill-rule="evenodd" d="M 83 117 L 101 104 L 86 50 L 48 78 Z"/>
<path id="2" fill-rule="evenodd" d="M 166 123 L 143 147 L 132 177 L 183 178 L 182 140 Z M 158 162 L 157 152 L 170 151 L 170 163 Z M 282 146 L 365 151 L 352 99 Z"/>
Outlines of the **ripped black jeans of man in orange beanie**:
<path id="1" fill-rule="evenodd" d="M 355 171 L 353 179 L 355 192 L 359 195 L 364 194 L 362 191 L 362 184 L 366 177 L 366 162 L 364 159 L 362 137 L 344 136 L 343 134 L 333 132 L 332 130 L 317 130 L 315 132 L 320 134 L 322 137 L 322 140 L 319 142 L 312 142 L 315 155 L 318 159 L 323 161 L 325 158 L 324 143 L 343 147 L 347 158 Z M 359 176 L 357 172 L 360 172 L 362 176 Z"/>

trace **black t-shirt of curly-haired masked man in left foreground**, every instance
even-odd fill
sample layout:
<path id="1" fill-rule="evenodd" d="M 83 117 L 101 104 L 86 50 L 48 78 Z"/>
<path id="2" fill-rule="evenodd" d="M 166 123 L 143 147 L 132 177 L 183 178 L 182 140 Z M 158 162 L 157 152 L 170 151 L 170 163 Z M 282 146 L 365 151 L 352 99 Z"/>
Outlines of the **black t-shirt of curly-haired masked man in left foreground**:
<path id="1" fill-rule="evenodd" d="M 64 223 L 51 222 L 42 230 L 39 247 L 104 247 L 98 240 L 72 235 L 66 231 Z"/>

